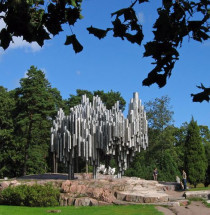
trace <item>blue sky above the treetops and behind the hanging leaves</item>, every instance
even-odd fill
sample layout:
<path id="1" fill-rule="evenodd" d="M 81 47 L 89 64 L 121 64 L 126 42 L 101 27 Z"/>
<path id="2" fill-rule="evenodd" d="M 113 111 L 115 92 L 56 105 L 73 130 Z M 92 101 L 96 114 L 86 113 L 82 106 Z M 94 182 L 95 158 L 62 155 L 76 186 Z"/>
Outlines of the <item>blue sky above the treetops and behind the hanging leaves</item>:
<path id="1" fill-rule="evenodd" d="M 154 3 L 153 3 L 154 2 Z M 151 40 L 152 24 L 157 17 L 155 8 L 160 1 L 138 6 L 137 16 L 143 24 L 145 42 Z M 188 38 L 183 42 L 180 60 L 177 61 L 167 85 L 159 89 L 157 85 L 143 87 L 142 81 L 153 68 L 152 59 L 143 58 L 144 47 L 130 44 L 112 33 L 103 40 L 90 35 L 86 28 L 93 25 L 98 28 L 110 27 L 110 14 L 128 6 L 130 1 L 86 0 L 83 3 L 84 19 L 72 28 L 78 40 L 83 44 L 82 53 L 75 54 L 71 46 L 64 46 L 66 34 L 71 34 L 68 26 L 65 31 L 45 42 L 41 48 L 36 43 L 28 44 L 21 38 L 14 38 L 6 51 L 0 50 L 0 85 L 12 90 L 19 86 L 31 65 L 46 73 L 52 87 L 56 87 L 63 98 L 75 94 L 76 89 L 89 91 L 119 91 L 129 104 L 133 92 L 139 92 L 143 103 L 156 97 L 168 95 L 174 111 L 174 124 L 181 126 L 193 116 L 200 125 L 210 128 L 210 104 L 193 103 L 191 93 L 199 90 L 196 85 L 203 83 L 209 87 L 210 42 L 198 43 Z M 0 28 L 4 23 L 0 22 Z M 127 115 L 127 108 L 124 112 Z"/>

